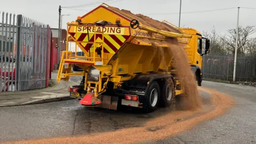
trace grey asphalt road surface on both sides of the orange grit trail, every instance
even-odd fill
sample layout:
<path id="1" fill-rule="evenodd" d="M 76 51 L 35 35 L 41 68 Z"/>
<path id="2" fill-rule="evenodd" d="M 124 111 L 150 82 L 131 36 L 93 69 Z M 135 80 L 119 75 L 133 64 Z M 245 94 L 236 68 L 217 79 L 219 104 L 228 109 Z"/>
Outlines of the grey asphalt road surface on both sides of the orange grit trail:
<path id="1" fill-rule="evenodd" d="M 205 121 L 189 131 L 145 143 L 255 143 L 256 88 L 206 81 L 203 85 L 231 95 L 236 99 L 236 105 L 225 115 Z M 202 94 L 207 99 L 207 93 Z M 138 127 L 164 113 L 164 109 L 150 114 L 92 109 L 80 106 L 77 100 L 2 107 L 0 141 L 111 132 Z"/>

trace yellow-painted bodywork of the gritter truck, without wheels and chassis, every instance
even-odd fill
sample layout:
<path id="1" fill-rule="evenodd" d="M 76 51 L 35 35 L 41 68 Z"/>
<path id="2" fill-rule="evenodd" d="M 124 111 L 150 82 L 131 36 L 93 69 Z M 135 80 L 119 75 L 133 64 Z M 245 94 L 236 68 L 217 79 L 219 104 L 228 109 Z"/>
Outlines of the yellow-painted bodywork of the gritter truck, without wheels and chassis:
<path id="1" fill-rule="evenodd" d="M 115 25 L 117 18 L 121 21 L 121 27 L 118 30 Z M 139 28 L 131 29 L 130 22 L 132 19 L 134 18 L 116 8 L 102 4 L 92 12 L 84 15 L 81 23 L 77 21 L 67 23 L 68 34 L 73 33 L 73 36 L 67 36 L 67 49 L 61 57 L 57 81 L 59 82 L 61 79 L 67 80 L 69 76 L 73 75 L 85 76 L 84 90 L 94 90 L 94 95 L 97 97 L 106 91 L 108 82 L 113 82 L 114 88 L 117 88 L 121 86 L 122 82 L 132 79 L 137 73 L 174 73 L 175 70 L 170 68 L 172 64 L 172 53 L 169 53 L 167 49 L 168 45 L 161 42 L 165 41 L 166 37 L 178 38 L 178 41 L 188 53 L 189 63 L 193 65 L 198 61 L 199 65 L 202 66 L 202 57 L 196 52 L 198 38 L 196 33 L 199 33 L 198 31 L 178 28 L 167 21 L 164 22 L 169 23 L 169 25 L 178 29 L 181 33 L 163 31 L 144 26 L 141 23 Z M 106 25 L 107 28 L 112 28 L 113 30 L 107 31 L 105 29 L 105 33 L 103 33 L 102 31 L 104 29 L 101 26 L 93 25 L 94 22 L 99 20 L 113 23 L 114 25 Z M 93 41 L 88 41 L 86 38 L 88 35 L 79 38 L 81 35 L 87 34 L 87 29 L 90 29 L 88 31 L 89 37 L 94 36 Z M 96 35 L 101 35 L 102 37 L 96 39 Z M 119 43 L 122 42 L 124 44 L 120 46 L 110 35 L 116 36 L 119 39 Z M 111 43 L 114 49 L 110 47 L 110 44 L 105 43 L 105 38 Z M 78 41 L 79 39 L 81 41 Z M 155 41 L 151 42 L 149 39 L 154 39 Z M 85 56 L 78 57 L 76 53 L 75 56 L 72 56 L 72 52 L 68 51 L 69 42 L 76 43 L 76 46 L 84 52 Z M 85 50 L 86 44 L 92 44 L 90 53 Z M 102 57 L 94 52 L 96 47 L 100 47 Z M 103 47 L 105 47 L 107 53 L 103 52 Z M 114 51 L 115 49 L 117 50 L 116 52 Z M 64 63 L 68 63 L 68 68 L 64 68 Z M 73 65 L 71 63 L 83 68 L 84 71 L 82 73 L 71 73 L 71 65 Z M 98 82 L 87 79 L 90 66 L 100 70 Z M 102 81 L 105 82 L 103 85 Z M 176 80 L 175 83 L 180 84 Z M 92 84 L 95 86 L 92 86 Z M 176 94 L 181 93 L 182 90 L 176 90 Z"/>

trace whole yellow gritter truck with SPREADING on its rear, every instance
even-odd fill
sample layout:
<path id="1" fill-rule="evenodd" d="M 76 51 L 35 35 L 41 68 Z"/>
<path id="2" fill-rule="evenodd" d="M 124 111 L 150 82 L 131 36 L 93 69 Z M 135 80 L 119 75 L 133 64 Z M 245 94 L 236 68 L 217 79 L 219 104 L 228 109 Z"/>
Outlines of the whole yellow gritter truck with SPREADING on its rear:
<path id="1" fill-rule="evenodd" d="M 119 106 L 146 111 L 154 111 L 158 105 L 175 107 L 175 95 L 183 91 L 168 45 L 163 43 L 167 37 L 177 38 L 183 46 L 201 86 L 202 55 L 209 53 L 209 39 L 195 29 L 178 28 L 167 21 L 159 25 L 169 30 L 157 29 L 140 18 L 102 4 L 67 23 L 67 50 L 62 53 L 57 81 L 68 81 L 70 76 L 82 80 L 68 88 L 70 97 L 83 106 L 114 110 Z M 206 40 L 205 51 L 202 39 Z M 68 51 L 69 42 L 84 56 Z M 74 65 L 83 71 L 73 72 Z"/>

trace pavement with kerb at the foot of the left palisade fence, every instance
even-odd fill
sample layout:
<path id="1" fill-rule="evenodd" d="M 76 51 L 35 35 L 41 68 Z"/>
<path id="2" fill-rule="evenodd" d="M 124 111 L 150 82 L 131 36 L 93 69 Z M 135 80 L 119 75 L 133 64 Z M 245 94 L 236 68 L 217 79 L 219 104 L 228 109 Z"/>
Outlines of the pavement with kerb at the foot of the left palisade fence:
<path id="1" fill-rule="evenodd" d="M 58 83 L 56 81 L 57 71 L 52 73 L 52 77 L 52 87 L 29 91 L 0 92 L 0 107 L 31 105 L 71 99 L 67 91 L 68 86 L 76 85 L 78 81 L 61 81 Z"/>

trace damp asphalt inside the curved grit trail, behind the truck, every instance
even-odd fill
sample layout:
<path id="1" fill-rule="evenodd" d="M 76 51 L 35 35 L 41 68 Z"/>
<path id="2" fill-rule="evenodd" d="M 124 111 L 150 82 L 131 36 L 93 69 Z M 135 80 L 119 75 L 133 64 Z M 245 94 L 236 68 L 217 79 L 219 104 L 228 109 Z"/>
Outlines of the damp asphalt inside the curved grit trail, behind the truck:
<path id="1" fill-rule="evenodd" d="M 203 93 L 204 103 L 210 103 L 209 93 Z M 109 132 L 143 125 L 149 119 L 169 113 L 160 108 L 154 113 L 92 109 L 79 105 L 78 100 L 38 105 L 0 108 L 0 141 L 26 140 L 65 135 Z"/>

